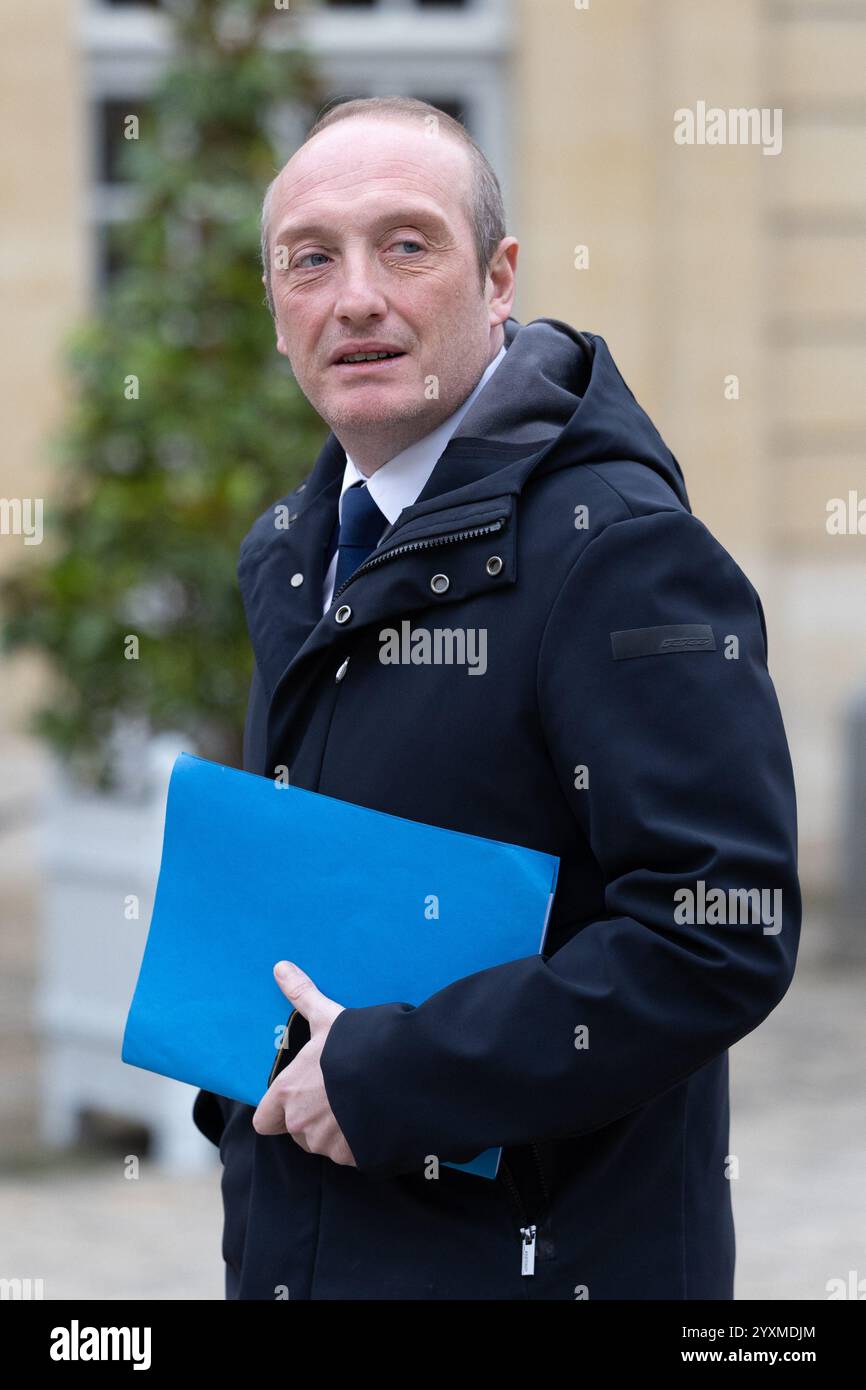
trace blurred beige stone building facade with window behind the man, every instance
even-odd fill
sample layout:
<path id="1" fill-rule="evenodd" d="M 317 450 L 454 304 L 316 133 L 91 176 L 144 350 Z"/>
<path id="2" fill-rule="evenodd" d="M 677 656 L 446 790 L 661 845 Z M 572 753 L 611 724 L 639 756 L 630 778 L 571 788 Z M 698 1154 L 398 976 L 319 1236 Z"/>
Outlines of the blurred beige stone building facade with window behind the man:
<path id="1" fill-rule="evenodd" d="M 866 499 L 863 4 L 370 0 L 292 14 L 332 96 L 403 92 L 466 121 L 521 242 L 517 317 L 607 339 L 695 513 L 762 595 L 803 885 L 833 892 L 842 714 L 866 682 L 866 537 L 827 531 L 830 499 Z M 146 110 L 170 24 L 158 0 L 18 0 L 0 31 L 14 343 L 1 491 L 49 499 L 61 339 L 111 274 L 107 228 L 135 199 L 117 174 L 122 117 Z M 780 108 L 781 152 L 677 145 L 674 111 L 699 101 Z M 299 138 L 289 118 L 286 157 Z M 0 564 L 17 562 L 21 539 L 1 539 Z M 44 767 L 19 728 L 43 681 L 15 662 L 0 687 L 15 920 L 35 902 L 26 812 Z"/>

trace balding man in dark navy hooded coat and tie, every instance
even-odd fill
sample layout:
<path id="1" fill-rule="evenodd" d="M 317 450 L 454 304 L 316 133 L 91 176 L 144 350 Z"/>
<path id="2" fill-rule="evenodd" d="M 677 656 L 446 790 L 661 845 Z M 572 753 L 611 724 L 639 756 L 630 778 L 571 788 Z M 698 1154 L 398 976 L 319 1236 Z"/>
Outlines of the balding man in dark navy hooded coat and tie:
<path id="1" fill-rule="evenodd" d="M 727 1049 L 801 910 L 758 594 L 603 339 L 512 317 L 498 183 L 443 113 L 332 108 L 263 238 L 331 435 L 242 545 L 245 766 L 560 872 L 544 955 L 417 1008 L 285 963 L 310 1041 L 256 1111 L 195 1105 L 227 1297 L 731 1298 Z M 493 1145 L 495 1180 L 446 1166 Z"/>

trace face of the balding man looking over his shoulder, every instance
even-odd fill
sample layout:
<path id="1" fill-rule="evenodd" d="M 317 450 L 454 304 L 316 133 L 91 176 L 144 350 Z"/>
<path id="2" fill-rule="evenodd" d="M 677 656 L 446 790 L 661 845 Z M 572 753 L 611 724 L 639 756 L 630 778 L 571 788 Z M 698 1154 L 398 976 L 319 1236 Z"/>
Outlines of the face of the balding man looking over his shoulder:
<path id="1" fill-rule="evenodd" d="M 314 136 L 274 188 L 277 346 L 354 456 L 385 449 L 384 461 L 432 430 L 499 348 L 516 243 L 482 291 L 470 178 L 455 139 L 411 120 L 356 117 Z M 399 356 L 335 360 L 374 348 Z"/>

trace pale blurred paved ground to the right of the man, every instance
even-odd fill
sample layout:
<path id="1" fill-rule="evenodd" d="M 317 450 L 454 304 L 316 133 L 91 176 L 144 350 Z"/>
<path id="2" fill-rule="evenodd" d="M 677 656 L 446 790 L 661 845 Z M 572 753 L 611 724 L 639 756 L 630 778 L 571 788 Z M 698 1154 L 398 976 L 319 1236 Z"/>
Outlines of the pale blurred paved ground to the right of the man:
<path id="1" fill-rule="evenodd" d="M 866 974 L 803 970 L 731 1049 L 738 1298 L 866 1279 L 865 1004 Z"/>

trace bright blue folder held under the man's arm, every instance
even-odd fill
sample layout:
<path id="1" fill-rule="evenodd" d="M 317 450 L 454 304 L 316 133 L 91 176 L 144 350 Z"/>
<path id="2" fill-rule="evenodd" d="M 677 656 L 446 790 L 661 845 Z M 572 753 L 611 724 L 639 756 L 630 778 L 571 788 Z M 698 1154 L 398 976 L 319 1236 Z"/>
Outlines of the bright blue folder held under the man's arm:
<path id="1" fill-rule="evenodd" d="M 346 1008 L 418 1005 L 539 952 L 557 872 L 555 855 L 181 753 L 121 1058 L 256 1106 L 293 1012 L 277 960 Z M 495 1177 L 500 1154 L 449 1166 Z"/>

